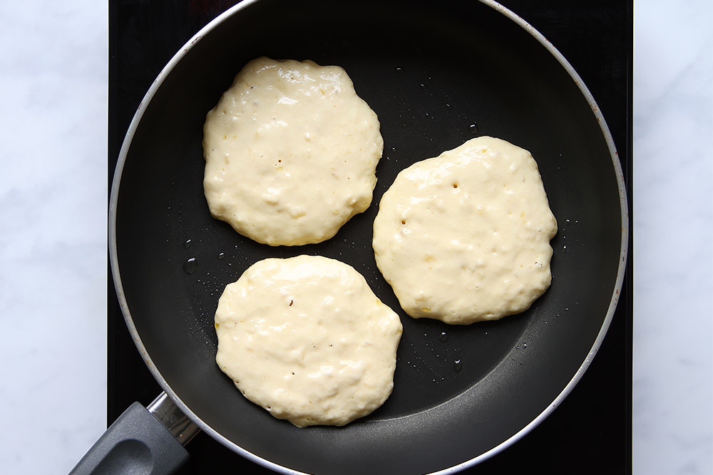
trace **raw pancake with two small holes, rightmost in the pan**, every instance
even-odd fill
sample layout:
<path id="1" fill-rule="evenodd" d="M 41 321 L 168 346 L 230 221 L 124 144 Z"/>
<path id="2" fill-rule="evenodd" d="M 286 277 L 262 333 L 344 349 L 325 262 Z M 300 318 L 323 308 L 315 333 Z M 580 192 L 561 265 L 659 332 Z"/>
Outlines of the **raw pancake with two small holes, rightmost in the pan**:
<path id="1" fill-rule="evenodd" d="M 374 220 L 374 253 L 414 318 L 520 313 L 550 285 L 557 232 L 530 152 L 478 137 L 404 169 Z"/>

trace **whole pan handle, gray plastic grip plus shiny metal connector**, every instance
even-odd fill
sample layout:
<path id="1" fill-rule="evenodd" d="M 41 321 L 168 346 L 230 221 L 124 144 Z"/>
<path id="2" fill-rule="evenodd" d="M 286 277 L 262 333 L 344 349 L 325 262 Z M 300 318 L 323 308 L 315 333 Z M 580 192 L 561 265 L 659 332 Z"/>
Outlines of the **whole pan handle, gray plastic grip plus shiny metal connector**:
<path id="1" fill-rule="evenodd" d="M 183 446 L 199 431 L 162 392 L 148 409 L 139 402 L 131 404 L 70 475 L 173 474 L 188 460 Z"/>

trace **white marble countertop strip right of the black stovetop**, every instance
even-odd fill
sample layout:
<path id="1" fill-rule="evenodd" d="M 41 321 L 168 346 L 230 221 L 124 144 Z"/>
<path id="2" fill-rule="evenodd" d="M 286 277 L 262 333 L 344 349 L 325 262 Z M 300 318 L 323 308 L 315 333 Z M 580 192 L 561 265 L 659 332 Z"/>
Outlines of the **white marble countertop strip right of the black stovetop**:
<path id="1" fill-rule="evenodd" d="M 713 2 L 635 6 L 633 457 L 713 473 Z"/>

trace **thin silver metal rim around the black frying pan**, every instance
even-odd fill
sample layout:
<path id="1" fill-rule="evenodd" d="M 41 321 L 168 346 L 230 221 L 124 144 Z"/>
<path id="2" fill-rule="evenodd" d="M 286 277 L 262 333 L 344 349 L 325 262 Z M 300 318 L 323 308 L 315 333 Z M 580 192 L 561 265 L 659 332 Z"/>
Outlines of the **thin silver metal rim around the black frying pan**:
<path id="1" fill-rule="evenodd" d="M 198 43 L 202 39 L 203 36 L 207 35 L 215 29 L 218 25 L 222 24 L 223 21 L 226 19 L 232 17 L 235 14 L 238 14 L 240 11 L 243 9 L 246 9 L 247 7 L 251 6 L 252 4 L 257 3 L 257 1 L 260 0 L 243 0 L 240 1 L 238 4 L 235 6 L 232 6 L 230 9 L 227 9 L 224 11 L 222 14 L 219 16 L 215 17 L 212 21 L 210 21 L 208 24 L 206 24 L 203 28 L 198 31 L 198 33 L 195 33 L 195 35 L 188 40 L 188 42 L 185 43 L 185 45 L 180 48 L 180 50 L 175 53 L 175 55 L 170 59 L 170 61 L 164 66 L 164 68 L 160 71 L 158 74 L 157 78 L 153 81 L 153 83 L 150 85 L 150 88 L 148 89 L 147 93 L 145 93 L 143 99 L 141 100 L 135 115 L 133 116 L 130 125 L 128 127 L 128 130 L 125 134 L 124 140 L 122 142 L 120 152 L 118 155 L 118 161 L 116 164 L 116 168 L 114 170 L 113 174 L 113 179 L 112 179 L 112 184 L 111 184 L 111 194 L 110 194 L 110 199 L 109 199 L 109 213 L 108 213 L 108 246 L 109 246 L 109 259 L 110 259 L 110 265 L 111 265 L 111 275 L 113 278 L 115 290 L 116 290 L 116 295 L 118 298 L 118 302 L 121 308 L 121 312 L 123 314 L 123 318 L 125 320 L 125 323 L 128 327 L 129 333 L 137 347 L 137 349 L 140 352 L 141 357 L 143 358 L 145 364 L 148 366 L 148 369 L 150 370 L 151 374 L 155 378 L 155 380 L 158 382 L 160 387 L 170 396 L 171 400 L 173 400 L 174 404 L 176 404 L 180 410 L 186 414 L 200 429 L 202 429 L 204 432 L 207 432 L 213 439 L 215 439 L 217 442 L 220 442 L 223 444 L 225 447 L 229 448 L 232 451 L 235 451 L 237 454 L 240 454 L 241 456 L 245 457 L 246 459 L 249 459 L 250 461 L 255 462 L 256 464 L 260 464 L 261 466 L 265 466 L 267 469 L 271 469 L 273 471 L 276 471 L 277 473 L 282 473 L 282 474 L 294 474 L 294 475 L 307 475 L 304 474 L 302 471 L 296 471 L 294 469 L 289 469 L 285 466 L 275 464 L 275 462 L 269 461 L 267 459 L 263 459 L 261 456 L 257 456 L 256 454 L 253 454 L 250 451 L 247 451 L 246 449 L 243 449 L 239 445 L 235 444 L 235 442 L 230 441 L 227 439 L 225 436 L 222 434 L 218 433 L 215 431 L 215 429 L 212 429 L 210 425 L 206 424 L 205 422 L 198 417 L 182 400 L 180 400 L 180 397 L 173 391 L 173 389 L 168 385 L 168 382 L 165 380 L 163 375 L 159 372 L 158 368 L 153 364 L 153 360 L 151 359 L 150 355 L 148 354 L 143 341 L 140 338 L 140 335 L 138 334 L 138 330 L 135 327 L 135 324 L 133 323 L 133 318 L 130 314 L 130 310 L 128 308 L 128 303 L 125 298 L 125 294 L 123 291 L 123 286 L 121 283 L 121 278 L 120 278 L 120 271 L 118 268 L 118 254 L 117 254 L 117 247 L 116 247 L 116 205 L 118 202 L 118 191 L 120 188 L 120 180 L 121 180 L 121 174 L 123 172 L 123 167 L 125 164 L 126 157 L 128 156 L 128 151 L 130 150 L 131 142 L 133 140 L 133 135 L 135 133 L 135 130 L 137 130 L 141 119 L 143 118 L 143 114 L 145 110 L 148 108 L 148 105 L 150 101 L 153 99 L 153 96 L 155 93 L 158 91 L 160 86 L 163 84 L 163 81 L 165 78 L 168 77 L 168 75 L 173 71 L 173 68 L 183 59 L 183 57 L 190 51 L 191 48 L 195 45 L 195 43 Z M 595 357 L 597 351 L 600 348 L 600 345 L 602 344 L 602 341 L 605 338 L 605 335 L 607 334 L 607 330 L 610 327 L 610 323 L 612 321 L 612 318 L 614 316 L 617 303 L 619 300 L 620 292 L 622 289 L 622 284 L 625 276 L 625 268 L 627 264 L 627 254 L 628 254 L 628 242 L 629 242 L 629 212 L 628 212 L 628 203 L 627 203 L 627 192 L 626 192 L 626 187 L 625 187 L 625 179 L 623 176 L 623 171 L 621 167 L 621 163 L 618 159 L 618 152 L 615 147 L 614 140 L 612 138 L 612 135 L 610 133 L 609 127 L 605 121 L 604 116 L 601 113 L 600 108 L 598 107 L 595 99 L 593 98 L 593 95 L 590 93 L 590 90 L 587 88 L 585 85 L 584 81 L 582 78 L 580 78 L 580 75 L 575 71 L 573 66 L 566 60 L 566 58 L 558 51 L 555 46 L 553 46 L 550 41 L 545 38 L 545 36 L 542 35 L 539 31 L 537 31 L 533 26 L 531 26 L 527 21 L 522 19 L 520 16 L 515 14 L 513 11 L 507 9 L 505 6 L 499 4 L 497 1 L 494 0 L 478 0 L 481 2 L 481 4 L 484 4 L 491 9 L 497 11 L 499 14 L 503 14 L 506 16 L 509 20 L 513 21 L 515 24 L 520 26 L 520 28 L 523 28 L 523 30 L 527 31 L 530 36 L 533 36 L 536 41 L 538 41 L 542 46 L 545 47 L 545 49 L 552 55 L 558 63 L 560 63 L 561 66 L 565 69 L 565 71 L 570 75 L 570 78 L 575 82 L 577 87 L 579 88 L 580 92 L 584 96 L 585 100 L 587 100 L 587 103 L 590 105 L 590 109 L 592 110 L 593 114 L 595 115 L 595 118 L 600 126 L 600 129 L 602 131 L 602 135 L 605 137 L 605 140 L 607 141 L 607 147 L 609 148 L 610 151 L 610 156 L 612 159 L 612 165 L 614 166 L 614 171 L 615 171 L 615 176 L 617 179 L 617 183 L 619 185 L 619 199 L 620 199 L 620 208 L 621 208 L 621 244 L 620 244 L 620 261 L 619 261 L 619 266 L 617 268 L 617 278 L 615 280 L 615 286 L 612 291 L 612 298 L 610 300 L 609 306 L 607 308 L 607 313 L 605 315 L 605 319 L 602 323 L 602 326 L 600 328 L 599 333 L 597 334 L 597 338 L 595 339 L 595 342 L 592 345 L 592 348 L 590 348 L 590 351 L 585 357 L 584 362 L 578 367 L 578 370 L 575 372 L 573 377 L 570 379 L 567 385 L 563 388 L 563 390 L 560 392 L 560 394 L 555 397 L 555 399 L 548 404 L 548 407 L 546 407 L 543 412 L 540 412 L 535 419 L 530 421 L 525 427 L 520 429 L 518 432 L 515 434 L 512 434 L 511 437 L 506 439 L 505 441 L 501 442 L 501 444 L 498 444 L 496 447 L 493 447 L 492 449 L 484 452 L 483 454 L 480 454 L 476 457 L 473 457 L 473 459 L 469 459 L 467 461 L 463 461 L 461 464 L 457 464 L 451 467 L 448 467 L 447 469 L 443 469 L 440 471 L 432 472 L 431 475 L 443 475 L 443 474 L 453 474 L 458 471 L 467 469 L 468 467 L 474 466 L 476 464 L 481 463 L 482 461 L 485 461 L 486 459 L 491 458 L 492 456 L 500 453 L 504 449 L 510 447 L 512 444 L 515 442 L 518 442 L 521 438 L 525 437 L 526 434 L 528 434 L 532 429 L 537 427 L 540 422 L 543 422 L 544 419 L 546 419 L 558 405 L 567 397 L 570 392 L 573 390 L 575 385 L 580 381 L 580 379 L 583 377 L 584 373 L 590 366 L 590 363 L 592 362 L 593 358 Z"/>

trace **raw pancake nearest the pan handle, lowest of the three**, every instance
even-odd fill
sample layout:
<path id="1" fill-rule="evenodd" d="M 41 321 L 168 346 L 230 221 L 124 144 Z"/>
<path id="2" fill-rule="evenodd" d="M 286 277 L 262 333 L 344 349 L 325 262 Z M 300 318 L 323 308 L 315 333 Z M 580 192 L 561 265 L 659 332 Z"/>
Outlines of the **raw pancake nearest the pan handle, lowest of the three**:
<path id="1" fill-rule="evenodd" d="M 394 387 L 401 320 L 352 266 L 265 259 L 225 287 L 216 361 L 247 399 L 298 427 L 341 426 Z"/>

